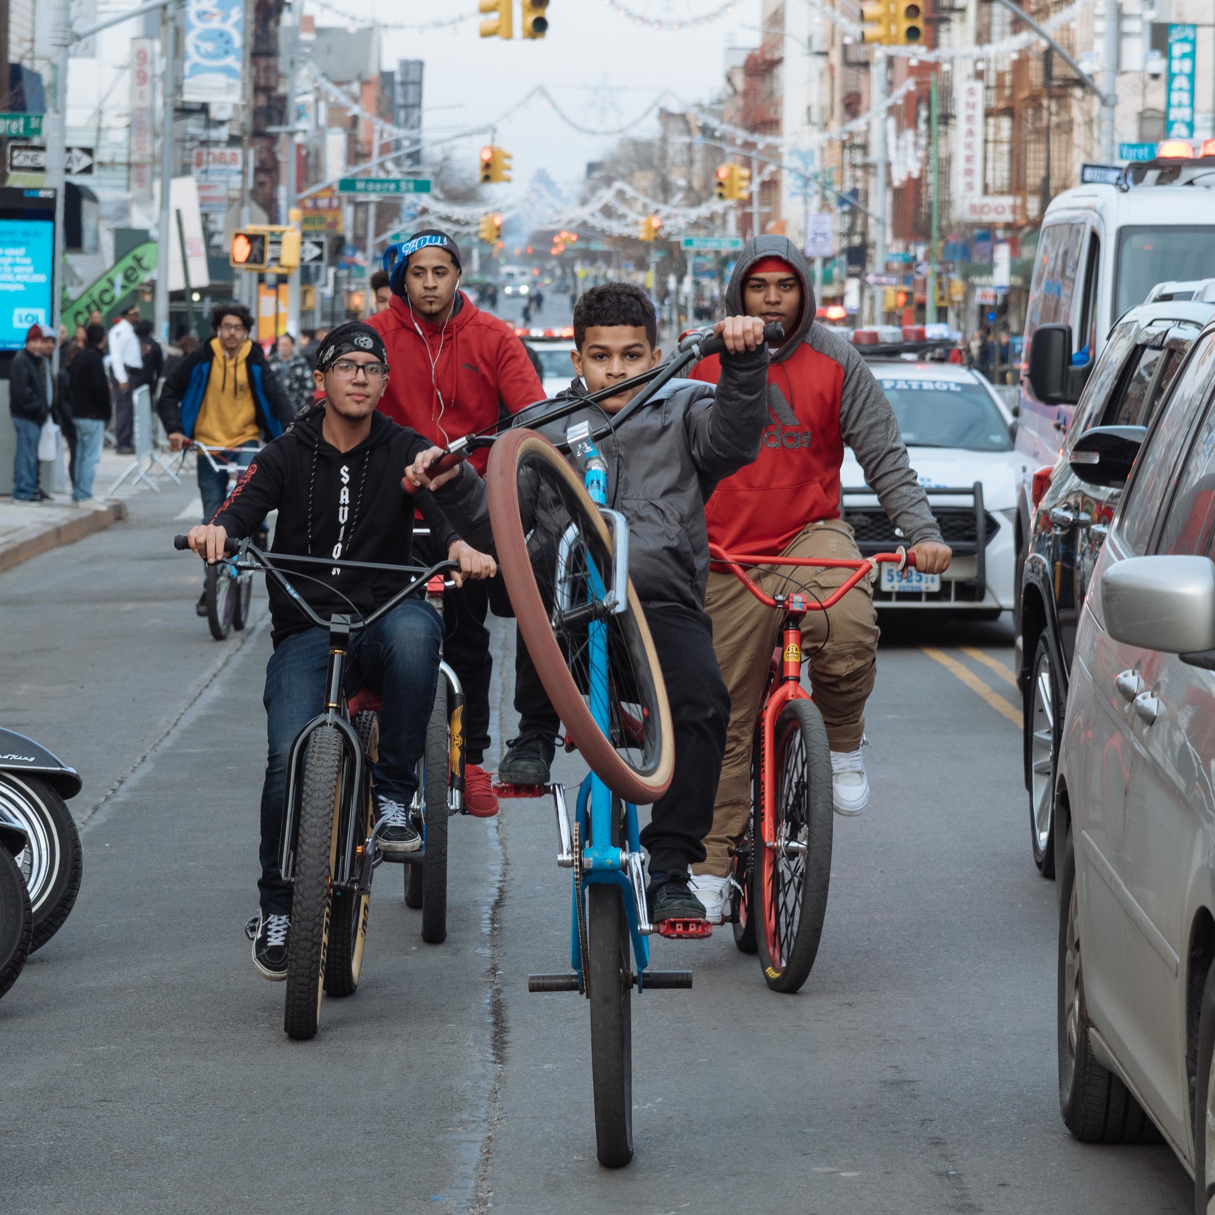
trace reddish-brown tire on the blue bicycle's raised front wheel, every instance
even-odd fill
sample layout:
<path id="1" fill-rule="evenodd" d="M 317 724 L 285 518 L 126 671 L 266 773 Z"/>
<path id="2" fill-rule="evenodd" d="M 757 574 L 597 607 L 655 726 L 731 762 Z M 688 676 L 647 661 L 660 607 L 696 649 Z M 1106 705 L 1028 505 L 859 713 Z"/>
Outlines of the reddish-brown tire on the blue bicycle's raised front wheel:
<path id="1" fill-rule="evenodd" d="M 618 797 L 649 804 L 657 801 L 671 784 L 674 744 L 666 685 L 645 614 L 631 581 L 628 610 L 610 617 L 610 621 L 615 622 L 611 627 L 625 639 L 629 659 L 645 667 L 639 674 L 648 680 L 648 691 L 652 699 L 649 712 L 657 718 L 650 725 L 655 730 L 656 753 L 645 767 L 638 768 L 617 752 L 612 740 L 599 728 L 553 631 L 532 566 L 527 546 L 530 529 L 524 525 L 524 510 L 519 501 L 521 462 L 527 462 L 537 470 L 542 468 L 550 484 L 560 487 L 563 504 L 580 512 L 578 525 L 589 535 L 598 536 L 605 552 L 611 549 L 611 536 L 599 509 L 590 501 L 577 474 L 547 439 L 527 429 L 510 430 L 498 439 L 490 452 L 487 474 L 490 522 L 519 631 L 549 701 L 583 759 Z"/>

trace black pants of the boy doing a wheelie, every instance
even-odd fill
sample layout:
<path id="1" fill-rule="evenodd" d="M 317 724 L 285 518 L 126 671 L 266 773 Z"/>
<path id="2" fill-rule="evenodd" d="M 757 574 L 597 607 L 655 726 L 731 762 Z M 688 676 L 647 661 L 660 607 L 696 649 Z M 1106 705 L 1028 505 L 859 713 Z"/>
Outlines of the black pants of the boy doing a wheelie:
<path id="1" fill-rule="evenodd" d="M 701 841 L 713 825 L 730 695 L 713 652 L 713 626 L 705 612 L 649 605 L 645 620 L 671 702 L 676 769 L 671 787 L 654 803 L 642 843 L 650 854 L 651 874 L 682 872 L 705 859 Z M 515 648 L 515 710 L 520 734 L 555 735 L 560 728 L 522 637 Z"/>

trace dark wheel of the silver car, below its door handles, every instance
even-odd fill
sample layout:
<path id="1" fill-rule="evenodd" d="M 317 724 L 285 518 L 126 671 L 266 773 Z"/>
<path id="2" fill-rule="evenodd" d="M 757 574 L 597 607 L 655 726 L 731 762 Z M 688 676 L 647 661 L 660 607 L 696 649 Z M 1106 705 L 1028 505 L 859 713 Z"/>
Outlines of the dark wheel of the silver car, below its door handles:
<path id="1" fill-rule="evenodd" d="M 1081 1143 L 1159 1142 L 1160 1132 L 1143 1107 L 1092 1053 L 1079 909 L 1075 853 L 1068 835 L 1059 874 L 1058 1063 L 1063 1121 Z"/>

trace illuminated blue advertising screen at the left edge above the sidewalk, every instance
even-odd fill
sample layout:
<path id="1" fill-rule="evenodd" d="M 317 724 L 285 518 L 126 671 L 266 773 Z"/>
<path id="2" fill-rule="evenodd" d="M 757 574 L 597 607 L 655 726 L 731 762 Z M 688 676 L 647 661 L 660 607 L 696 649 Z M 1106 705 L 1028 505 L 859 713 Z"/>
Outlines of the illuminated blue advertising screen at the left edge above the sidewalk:
<path id="1" fill-rule="evenodd" d="M 0 190 L 0 351 L 21 350 L 32 324 L 50 328 L 55 192 Z"/>

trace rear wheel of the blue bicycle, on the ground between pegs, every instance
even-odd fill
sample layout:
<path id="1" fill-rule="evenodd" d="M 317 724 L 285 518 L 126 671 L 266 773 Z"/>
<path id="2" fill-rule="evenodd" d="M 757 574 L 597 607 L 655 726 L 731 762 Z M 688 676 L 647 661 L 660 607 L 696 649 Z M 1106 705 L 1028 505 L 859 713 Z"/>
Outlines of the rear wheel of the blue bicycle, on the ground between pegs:
<path id="1" fill-rule="evenodd" d="M 587 949 L 595 1154 L 617 1169 L 633 1159 L 633 963 L 623 892 L 615 883 L 587 887 Z"/>

